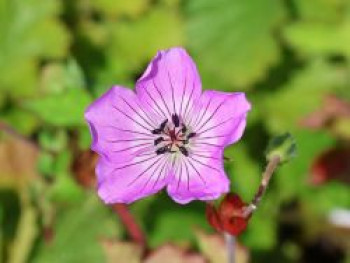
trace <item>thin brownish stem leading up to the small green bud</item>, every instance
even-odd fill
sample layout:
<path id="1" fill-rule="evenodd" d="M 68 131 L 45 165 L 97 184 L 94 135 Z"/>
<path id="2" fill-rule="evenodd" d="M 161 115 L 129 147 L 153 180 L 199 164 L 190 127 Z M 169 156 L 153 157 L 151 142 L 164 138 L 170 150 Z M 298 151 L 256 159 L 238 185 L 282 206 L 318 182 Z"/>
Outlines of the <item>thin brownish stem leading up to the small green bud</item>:
<path id="1" fill-rule="evenodd" d="M 273 156 L 269 161 L 269 163 L 267 164 L 266 169 L 262 175 L 262 179 L 261 179 L 261 183 L 258 188 L 258 191 L 255 194 L 251 203 L 245 208 L 245 211 L 244 211 L 245 217 L 249 217 L 260 204 L 261 199 L 266 192 L 267 186 L 270 183 L 270 179 L 280 162 L 281 162 L 281 159 L 279 156 Z"/>

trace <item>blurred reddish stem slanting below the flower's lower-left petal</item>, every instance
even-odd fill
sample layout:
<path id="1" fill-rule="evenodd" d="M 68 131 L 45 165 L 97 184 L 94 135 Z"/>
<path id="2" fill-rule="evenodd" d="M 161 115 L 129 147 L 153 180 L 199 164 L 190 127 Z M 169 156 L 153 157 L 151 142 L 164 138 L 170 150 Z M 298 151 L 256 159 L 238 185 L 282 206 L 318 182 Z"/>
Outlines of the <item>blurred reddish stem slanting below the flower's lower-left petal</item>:
<path id="1" fill-rule="evenodd" d="M 132 240 L 134 240 L 137 244 L 142 247 L 146 246 L 146 238 L 141 229 L 141 227 L 137 224 L 134 216 L 130 213 L 127 205 L 125 204 L 114 204 L 112 205 L 112 209 L 115 213 L 118 214 L 122 224 L 125 226 L 126 231 Z"/>

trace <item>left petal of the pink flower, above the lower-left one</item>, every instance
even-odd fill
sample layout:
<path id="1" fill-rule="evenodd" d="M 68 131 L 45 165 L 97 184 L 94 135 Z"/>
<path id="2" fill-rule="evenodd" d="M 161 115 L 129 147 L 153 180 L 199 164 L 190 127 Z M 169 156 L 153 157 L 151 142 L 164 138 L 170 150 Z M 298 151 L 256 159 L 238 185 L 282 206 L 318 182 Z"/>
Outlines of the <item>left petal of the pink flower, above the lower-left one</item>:
<path id="1" fill-rule="evenodd" d="M 154 116 L 141 107 L 135 93 L 115 86 L 85 112 L 92 134 L 91 149 L 113 162 L 125 162 L 153 148 Z"/>

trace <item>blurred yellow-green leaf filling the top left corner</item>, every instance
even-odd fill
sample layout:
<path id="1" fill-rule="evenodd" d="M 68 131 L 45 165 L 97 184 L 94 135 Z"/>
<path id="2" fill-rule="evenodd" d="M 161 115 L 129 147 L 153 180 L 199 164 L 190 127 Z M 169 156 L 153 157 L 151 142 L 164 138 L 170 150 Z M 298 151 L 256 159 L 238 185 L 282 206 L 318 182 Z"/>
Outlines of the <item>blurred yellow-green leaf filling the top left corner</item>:
<path id="1" fill-rule="evenodd" d="M 69 35 L 57 0 L 0 0 L 0 89 L 12 96 L 36 92 L 42 59 L 67 54 Z"/>

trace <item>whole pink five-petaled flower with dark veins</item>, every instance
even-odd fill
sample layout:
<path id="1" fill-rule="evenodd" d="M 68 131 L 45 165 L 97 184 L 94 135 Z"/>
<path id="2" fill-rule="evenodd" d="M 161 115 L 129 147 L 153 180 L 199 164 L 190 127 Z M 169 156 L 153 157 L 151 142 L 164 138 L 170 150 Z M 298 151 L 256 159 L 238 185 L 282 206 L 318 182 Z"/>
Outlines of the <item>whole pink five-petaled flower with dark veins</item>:
<path id="1" fill-rule="evenodd" d="M 244 93 L 204 91 L 182 48 L 158 52 L 136 92 L 114 86 L 86 110 L 98 194 L 131 203 L 166 187 L 176 202 L 212 200 L 229 191 L 224 147 L 246 126 Z"/>

